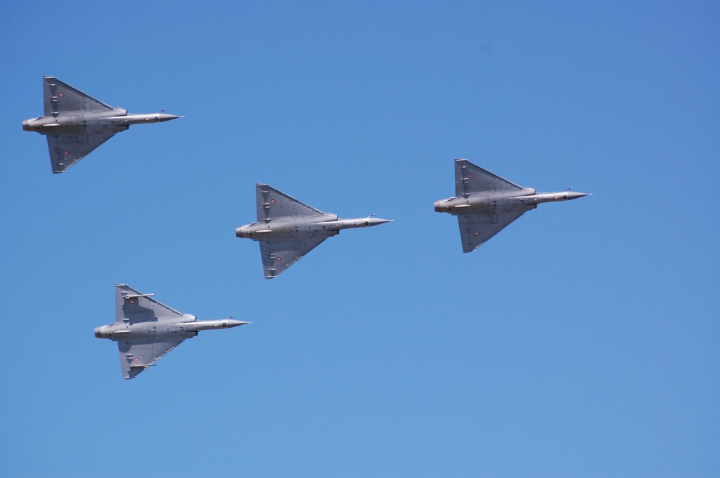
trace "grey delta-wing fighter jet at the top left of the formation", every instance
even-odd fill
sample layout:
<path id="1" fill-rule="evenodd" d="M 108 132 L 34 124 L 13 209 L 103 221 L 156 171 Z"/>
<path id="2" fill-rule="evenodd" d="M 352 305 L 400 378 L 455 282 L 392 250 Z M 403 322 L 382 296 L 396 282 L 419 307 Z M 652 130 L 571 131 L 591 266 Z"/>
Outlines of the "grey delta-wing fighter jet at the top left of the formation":
<path id="1" fill-rule="evenodd" d="M 131 124 L 159 123 L 180 118 L 174 114 L 127 114 L 54 76 L 42 77 L 45 115 L 22 121 L 22 129 L 48 137 L 53 174 L 64 173 L 79 160 Z M 164 111 L 164 110 L 163 110 Z"/>

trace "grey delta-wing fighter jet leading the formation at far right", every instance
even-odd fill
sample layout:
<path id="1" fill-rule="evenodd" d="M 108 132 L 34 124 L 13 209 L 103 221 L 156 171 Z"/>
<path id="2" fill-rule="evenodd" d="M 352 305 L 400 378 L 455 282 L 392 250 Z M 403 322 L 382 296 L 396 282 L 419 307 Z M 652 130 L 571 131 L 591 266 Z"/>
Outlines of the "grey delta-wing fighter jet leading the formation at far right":
<path id="1" fill-rule="evenodd" d="M 570 201 L 588 193 L 536 193 L 468 160 L 455 160 L 455 196 L 436 201 L 435 211 L 457 216 L 462 252 L 472 252 L 539 203 Z"/>

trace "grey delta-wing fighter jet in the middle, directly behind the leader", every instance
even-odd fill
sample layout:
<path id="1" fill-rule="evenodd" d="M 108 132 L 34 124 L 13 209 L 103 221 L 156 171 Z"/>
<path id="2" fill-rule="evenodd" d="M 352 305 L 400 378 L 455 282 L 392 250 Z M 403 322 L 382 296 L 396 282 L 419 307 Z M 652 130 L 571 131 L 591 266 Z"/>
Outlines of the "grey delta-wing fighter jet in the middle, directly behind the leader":
<path id="1" fill-rule="evenodd" d="M 265 278 L 277 277 L 288 267 L 318 247 L 341 229 L 377 226 L 390 222 L 367 216 L 338 219 L 323 213 L 267 184 L 256 184 L 258 221 L 235 229 L 235 236 L 260 243 Z"/>

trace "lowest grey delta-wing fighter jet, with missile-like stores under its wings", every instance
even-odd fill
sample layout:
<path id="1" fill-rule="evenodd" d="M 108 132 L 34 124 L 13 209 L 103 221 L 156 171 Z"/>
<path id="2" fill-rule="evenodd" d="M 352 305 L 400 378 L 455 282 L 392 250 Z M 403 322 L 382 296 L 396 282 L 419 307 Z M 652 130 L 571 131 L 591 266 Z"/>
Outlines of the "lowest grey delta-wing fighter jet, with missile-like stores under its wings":
<path id="1" fill-rule="evenodd" d="M 125 284 L 115 284 L 115 323 L 95 328 L 98 339 L 117 342 L 122 378 L 130 380 L 168 351 L 191 339 L 202 330 L 220 330 L 241 326 L 243 321 L 223 318 L 198 321 L 189 313 L 179 313 L 167 305 Z"/>

